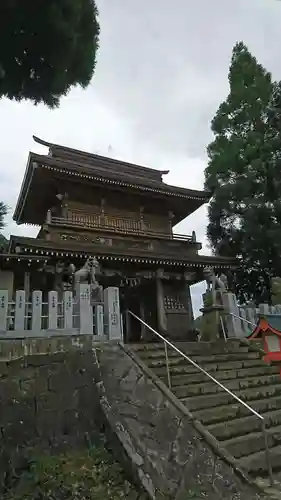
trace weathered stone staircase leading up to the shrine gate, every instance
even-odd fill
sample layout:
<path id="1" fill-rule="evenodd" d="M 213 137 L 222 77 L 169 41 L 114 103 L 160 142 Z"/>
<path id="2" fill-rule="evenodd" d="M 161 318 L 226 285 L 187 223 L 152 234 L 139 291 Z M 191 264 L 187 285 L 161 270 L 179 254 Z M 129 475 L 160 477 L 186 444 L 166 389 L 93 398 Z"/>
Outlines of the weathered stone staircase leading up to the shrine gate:
<path id="1" fill-rule="evenodd" d="M 265 418 L 272 468 L 281 477 L 281 377 L 277 366 L 240 341 L 177 343 L 176 346 Z M 130 349 L 167 384 L 163 344 Z M 172 392 L 253 478 L 268 468 L 261 421 L 176 351 L 168 348 Z M 280 477 L 279 477 L 280 474 Z"/>

